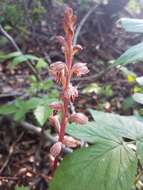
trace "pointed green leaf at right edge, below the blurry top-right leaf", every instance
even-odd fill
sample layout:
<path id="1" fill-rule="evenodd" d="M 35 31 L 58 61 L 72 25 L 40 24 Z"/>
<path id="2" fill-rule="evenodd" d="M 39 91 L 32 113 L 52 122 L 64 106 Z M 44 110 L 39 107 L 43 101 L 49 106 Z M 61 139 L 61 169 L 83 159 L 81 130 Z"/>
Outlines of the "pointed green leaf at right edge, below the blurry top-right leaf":
<path id="1" fill-rule="evenodd" d="M 114 64 L 126 65 L 129 63 L 136 63 L 143 60 L 143 42 L 132 46 L 125 53 L 123 53 Z"/>

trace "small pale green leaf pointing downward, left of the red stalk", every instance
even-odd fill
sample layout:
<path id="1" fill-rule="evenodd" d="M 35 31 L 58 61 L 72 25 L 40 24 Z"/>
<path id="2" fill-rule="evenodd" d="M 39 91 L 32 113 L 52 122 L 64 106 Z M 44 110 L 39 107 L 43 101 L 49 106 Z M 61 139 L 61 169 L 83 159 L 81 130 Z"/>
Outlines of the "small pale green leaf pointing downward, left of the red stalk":
<path id="1" fill-rule="evenodd" d="M 51 115 L 51 109 L 48 109 L 47 106 L 38 106 L 34 111 L 34 115 L 41 126 L 47 121 Z"/>

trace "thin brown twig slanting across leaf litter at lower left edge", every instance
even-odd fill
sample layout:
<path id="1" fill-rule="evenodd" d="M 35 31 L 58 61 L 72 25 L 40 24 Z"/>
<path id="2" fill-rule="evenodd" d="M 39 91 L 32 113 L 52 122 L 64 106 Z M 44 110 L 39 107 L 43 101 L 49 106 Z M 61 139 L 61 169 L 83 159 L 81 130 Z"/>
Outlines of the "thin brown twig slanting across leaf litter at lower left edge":
<path id="1" fill-rule="evenodd" d="M 2 174 L 2 172 L 5 170 L 5 168 L 7 167 L 8 163 L 10 162 L 11 156 L 13 155 L 14 149 L 16 144 L 19 142 L 19 140 L 23 137 L 24 133 L 22 132 L 18 138 L 16 139 L 16 141 L 10 146 L 9 148 L 9 154 L 7 156 L 7 159 L 5 160 L 3 166 L 0 169 L 0 174 Z"/>

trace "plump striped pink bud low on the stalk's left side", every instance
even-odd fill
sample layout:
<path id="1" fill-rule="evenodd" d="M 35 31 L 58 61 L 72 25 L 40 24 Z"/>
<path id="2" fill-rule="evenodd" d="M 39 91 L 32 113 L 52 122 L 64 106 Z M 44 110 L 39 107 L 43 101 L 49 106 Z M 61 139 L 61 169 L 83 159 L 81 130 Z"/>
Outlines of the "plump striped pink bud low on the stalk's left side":
<path id="1" fill-rule="evenodd" d="M 50 148 L 50 153 L 51 155 L 56 158 L 62 150 L 62 143 L 61 142 L 56 142 L 51 148 Z"/>

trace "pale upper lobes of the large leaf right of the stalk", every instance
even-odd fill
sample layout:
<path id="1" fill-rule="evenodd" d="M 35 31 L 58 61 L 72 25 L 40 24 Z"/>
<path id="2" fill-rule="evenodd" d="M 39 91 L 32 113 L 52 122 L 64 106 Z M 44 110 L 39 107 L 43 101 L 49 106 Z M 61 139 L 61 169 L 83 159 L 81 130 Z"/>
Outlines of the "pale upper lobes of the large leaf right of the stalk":
<path id="1" fill-rule="evenodd" d="M 90 110 L 90 113 L 95 122 L 89 122 L 84 126 L 71 124 L 66 132 L 89 143 L 95 143 L 101 138 L 110 139 L 113 135 L 118 139 L 143 138 L 143 123 L 135 116 L 120 116 L 95 110 Z"/>

